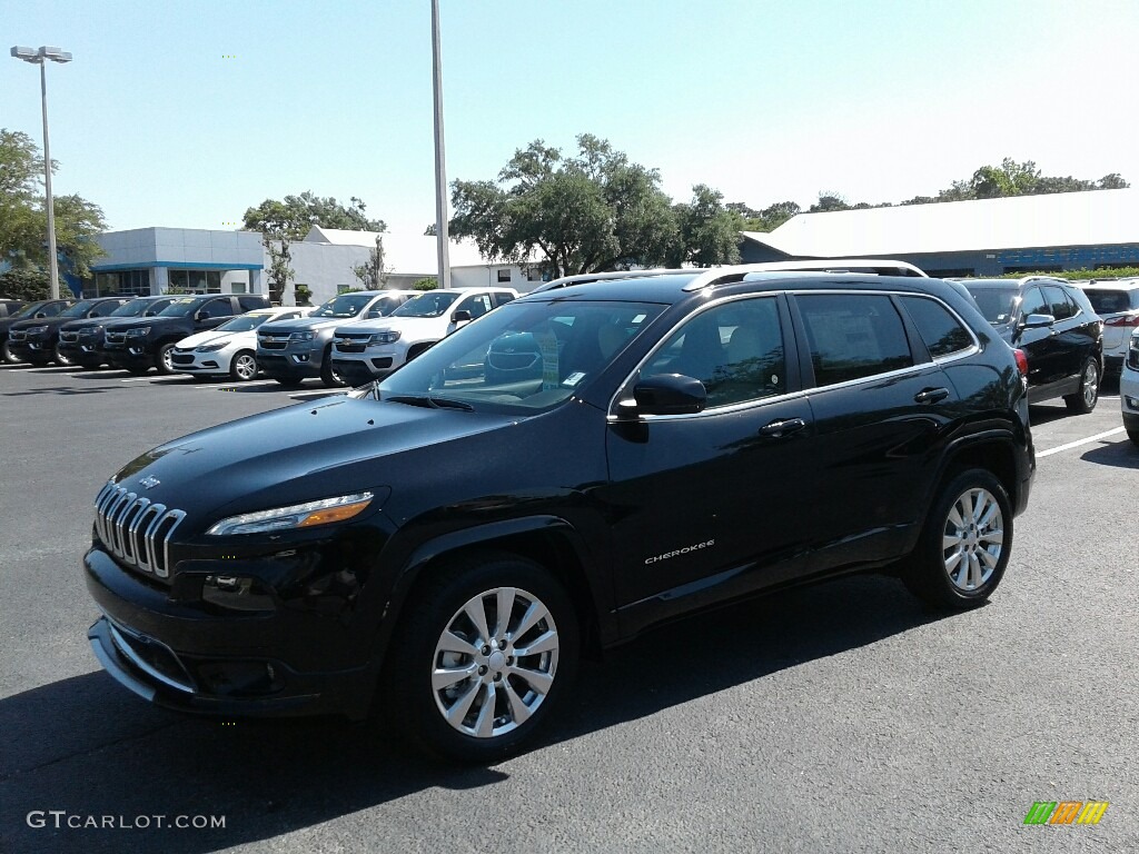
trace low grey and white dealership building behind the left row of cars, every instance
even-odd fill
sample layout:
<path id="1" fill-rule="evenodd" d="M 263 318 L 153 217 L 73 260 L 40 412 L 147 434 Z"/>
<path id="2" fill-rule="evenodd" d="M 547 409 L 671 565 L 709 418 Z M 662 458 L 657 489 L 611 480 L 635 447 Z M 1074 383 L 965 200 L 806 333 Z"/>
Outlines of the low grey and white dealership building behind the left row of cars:
<path id="1" fill-rule="evenodd" d="M 345 231 L 314 225 L 304 240 L 289 244 L 293 285 L 284 302 L 295 302 L 294 288 L 305 285 L 319 304 L 337 293 L 359 288 L 353 269 L 367 264 L 376 238 L 383 240 L 386 287 L 409 288 L 436 277 L 436 241 L 426 235 Z M 142 228 L 108 231 L 96 240 L 106 253 L 91 265 L 90 295 L 268 294 L 269 257 L 255 231 Z M 540 277 L 515 264 L 485 261 L 470 241 L 450 244 L 452 287 L 494 285 L 519 291 L 535 287 Z"/>

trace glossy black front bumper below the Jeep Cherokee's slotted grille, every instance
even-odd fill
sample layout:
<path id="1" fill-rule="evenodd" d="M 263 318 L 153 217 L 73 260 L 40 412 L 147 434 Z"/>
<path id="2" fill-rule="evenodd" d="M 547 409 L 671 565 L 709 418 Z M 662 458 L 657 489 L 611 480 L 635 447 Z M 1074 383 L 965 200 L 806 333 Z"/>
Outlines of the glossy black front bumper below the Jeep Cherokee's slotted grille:
<path id="1" fill-rule="evenodd" d="M 302 668 L 297 649 L 343 647 L 319 615 L 280 609 L 219 614 L 171 601 L 169 589 L 122 567 L 99 548 L 83 559 L 103 616 L 88 631 L 106 671 L 144 699 L 187 713 L 233 716 L 367 716 L 367 666 Z M 302 655 L 303 657 L 303 655 Z"/>

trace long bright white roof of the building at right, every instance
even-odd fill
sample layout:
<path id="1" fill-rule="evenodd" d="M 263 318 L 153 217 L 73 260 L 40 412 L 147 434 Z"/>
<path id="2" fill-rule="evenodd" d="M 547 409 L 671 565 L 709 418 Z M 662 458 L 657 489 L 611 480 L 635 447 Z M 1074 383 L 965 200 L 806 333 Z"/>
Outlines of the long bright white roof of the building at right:
<path id="1" fill-rule="evenodd" d="M 796 257 L 1139 243 L 1139 189 L 798 214 L 748 240 Z"/>

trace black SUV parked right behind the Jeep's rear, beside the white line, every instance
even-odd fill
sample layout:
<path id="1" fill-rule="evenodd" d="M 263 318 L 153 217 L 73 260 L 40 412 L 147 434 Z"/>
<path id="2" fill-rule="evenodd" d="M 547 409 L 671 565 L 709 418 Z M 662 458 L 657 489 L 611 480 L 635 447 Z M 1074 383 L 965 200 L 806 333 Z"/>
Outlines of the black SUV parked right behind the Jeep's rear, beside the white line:
<path id="1" fill-rule="evenodd" d="M 1088 296 L 1062 279 L 962 279 L 985 320 L 1029 359 L 1029 402 L 1063 397 L 1087 413 L 1104 376 L 1104 323 Z"/>

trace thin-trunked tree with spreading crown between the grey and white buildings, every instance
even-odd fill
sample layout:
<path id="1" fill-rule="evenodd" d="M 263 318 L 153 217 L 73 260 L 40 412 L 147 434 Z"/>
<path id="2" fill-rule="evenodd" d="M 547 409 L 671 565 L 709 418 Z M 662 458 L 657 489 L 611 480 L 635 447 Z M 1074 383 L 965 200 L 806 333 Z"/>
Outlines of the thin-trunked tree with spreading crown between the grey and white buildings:
<path id="1" fill-rule="evenodd" d="M 261 243 L 269 254 L 269 298 L 280 303 L 289 281 L 296 274 L 292 268 L 289 244 L 303 240 L 313 225 L 349 231 L 384 231 L 383 220 L 369 220 L 364 204 L 355 196 L 349 207 L 331 196 L 320 198 L 310 190 L 300 196 L 286 196 L 284 202 L 265 199 L 245 212 L 245 229 L 260 231 Z"/>

